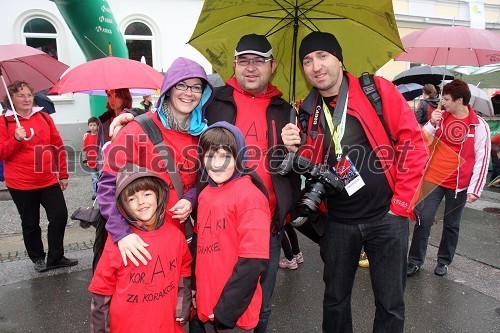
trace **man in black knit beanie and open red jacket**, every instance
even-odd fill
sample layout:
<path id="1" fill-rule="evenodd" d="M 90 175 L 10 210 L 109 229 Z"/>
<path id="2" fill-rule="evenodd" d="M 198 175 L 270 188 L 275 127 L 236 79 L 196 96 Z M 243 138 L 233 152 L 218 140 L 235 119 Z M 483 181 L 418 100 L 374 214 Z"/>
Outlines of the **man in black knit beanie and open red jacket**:
<path id="1" fill-rule="evenodd" d="M 313 89 L 300 106 L 301 130 L 288 124 L 285 146 L 314 164 L 326 163 L 345 184 L 327 196 L 316 230 L 324 262 L 323 332 L 352 332 L 351 293 L 362 247 L 375 295 L 373 332 L 403 332 L 408 218 L 427 153 L 418 123 L 394 85 L 375 77 L 379 117 L 359 79 L 343 71 L 342 48 L 332 34 L 312 32 L 299 58 Z M 384 124 L 385 123 L 385 124 Z M 294 189 L 299 191 L 299 188 Z"/>

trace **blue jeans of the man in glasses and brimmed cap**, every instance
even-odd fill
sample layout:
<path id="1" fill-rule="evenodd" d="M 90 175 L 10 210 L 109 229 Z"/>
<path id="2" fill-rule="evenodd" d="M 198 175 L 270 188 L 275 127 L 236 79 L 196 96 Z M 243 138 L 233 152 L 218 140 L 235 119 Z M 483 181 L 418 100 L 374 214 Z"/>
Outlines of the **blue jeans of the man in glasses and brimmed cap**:
<path id="1" fill-rule="evenodd" d="M 271 234 L 269 244 L 269 264 L 267 270 L 260 278 L 262 287 L 262 307 L 260 309 L 259 323 L 255 327 L 255 333 L 265 333 L 269 317 L 271 316 L 271 296 L 276 285 L 276 275 L 278 274 L 278 264 L 281 254 L 281 240 L 283 239 L 283 229 L 276 234 Z"/>

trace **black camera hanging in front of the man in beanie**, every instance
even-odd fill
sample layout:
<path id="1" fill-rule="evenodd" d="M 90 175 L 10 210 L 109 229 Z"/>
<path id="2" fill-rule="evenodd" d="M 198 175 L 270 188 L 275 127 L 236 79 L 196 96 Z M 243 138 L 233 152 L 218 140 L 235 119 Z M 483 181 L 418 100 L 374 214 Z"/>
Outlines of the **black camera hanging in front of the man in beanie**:
<path id="1" fill-rule="evenodd" d="M 344 182 L 331 167 L 325 167 L 323 164 L 313 164 L 310 159 L 290 152 L 278 172 L 281 175 L 286 175 L 292 169 L 299 174 L 308 175 L 304 194 L 296 206 L 300 216 L 317 213 L 321 201 L 327 193 L 337 194 L 344 189 Z"/>

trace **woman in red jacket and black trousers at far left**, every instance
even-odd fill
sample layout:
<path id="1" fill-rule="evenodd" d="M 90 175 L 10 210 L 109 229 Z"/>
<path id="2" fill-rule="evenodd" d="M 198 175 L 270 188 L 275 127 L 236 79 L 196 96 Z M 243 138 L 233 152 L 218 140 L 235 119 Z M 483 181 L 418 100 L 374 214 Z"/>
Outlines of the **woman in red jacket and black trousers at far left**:
<path id="1" fill-rule="evenodd" d="M 15 81 L 8 87 L 15 111 L 7 110 L 0 121 L 0 160 L 5 165 L 5 183 L 21 215 L 23 239 L 35 270 L 69 267 L 78 260 L 64 256 L 64 232 L 68 209 L 63 192 L 68 186 L 64 143 L 52 118 L 33 107 L 33 87 Z M 6 103 L 8 105 L 8 101 Z M 14 112 L 20 127 L 16 126 Z M 31 139 L 26 130 L 32 129 Z M 47 264 L 40 229 L 40 205 L 48 226 Z"/>

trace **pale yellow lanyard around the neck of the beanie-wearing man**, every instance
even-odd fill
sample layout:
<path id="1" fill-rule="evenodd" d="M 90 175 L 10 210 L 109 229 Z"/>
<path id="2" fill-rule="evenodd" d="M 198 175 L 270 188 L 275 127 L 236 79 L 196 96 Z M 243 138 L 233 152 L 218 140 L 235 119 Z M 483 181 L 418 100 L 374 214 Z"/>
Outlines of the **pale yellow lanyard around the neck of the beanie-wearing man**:
<path id="1" fill-rule="evenodd" d="M 332 135 L 332 140 L 335 145 L 335 155 L 337 160 L 342 158 L 342 145 L 341 140 L 344 137 L 346 114 L 347 114 L 347 100 L 349 98 L 349 83 L 347 78 L 344 76 L 342 83 L 340 84 L 339 94 L 337 98 L 337 105 L 333 111 L 333 116 L 330 113 L 328 105 L 323 100 L 323 110 L 325 112 L 325 119 L 328 123 L 328 128 Z M 331 142 L 330 142 L 331 145 Z M 329 152 L 330 150 L 328 150 Z M 328 155 L 325 157 L 325 161 L 328 160 Z"/>

